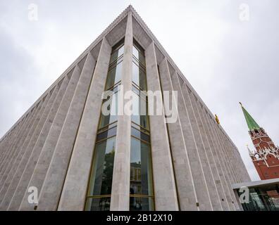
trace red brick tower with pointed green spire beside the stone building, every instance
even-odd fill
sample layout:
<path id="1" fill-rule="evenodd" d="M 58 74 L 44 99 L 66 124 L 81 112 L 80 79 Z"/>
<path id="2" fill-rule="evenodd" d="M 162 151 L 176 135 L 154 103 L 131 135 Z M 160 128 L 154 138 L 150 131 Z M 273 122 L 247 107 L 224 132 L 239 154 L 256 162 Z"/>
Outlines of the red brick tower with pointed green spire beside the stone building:
<path id="1" fill-rule="evenodd" d="M 255 150 L 248 148 L 256 171 L 262 180 L 279 178 L 279 148 L 275 146 L 266 131 L 256 123 L 252 116 L 240 103 L 249 128 L 249 135 Z"/>

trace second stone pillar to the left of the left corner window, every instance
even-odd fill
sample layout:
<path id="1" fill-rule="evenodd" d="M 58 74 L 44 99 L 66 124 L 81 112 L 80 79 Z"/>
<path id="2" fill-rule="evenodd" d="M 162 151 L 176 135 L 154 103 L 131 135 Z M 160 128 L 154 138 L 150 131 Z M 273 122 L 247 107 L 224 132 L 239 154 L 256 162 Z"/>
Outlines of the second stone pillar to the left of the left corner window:
<path id="1" fill-rule="evenodd" d="M 70 103 L 70 108 L 58 138 L 46 178 L 44 179 L 42 191 L 39 195 L 38 210 L 56 210 L 58 207 L 89 85 L 92 82 L 95 63 L 96 61 L 92 53 L 89 52 L 85 65 L 83 65 L 80 79 L 77 82 L 77 88 Z"/>

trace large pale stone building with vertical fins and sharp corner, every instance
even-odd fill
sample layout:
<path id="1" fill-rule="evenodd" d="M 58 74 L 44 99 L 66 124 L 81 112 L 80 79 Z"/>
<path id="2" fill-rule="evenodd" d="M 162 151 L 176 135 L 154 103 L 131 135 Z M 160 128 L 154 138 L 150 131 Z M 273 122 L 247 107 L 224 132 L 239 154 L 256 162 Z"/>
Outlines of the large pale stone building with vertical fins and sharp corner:
<path id="1" fill-rule="evenodd" d="M 120 84 L 136 94 L 136 110 L 151 110 L 140 91 L 177 91 L 178 120 L 166 123 L 165 111 L 104 115 L 103 92 L 116 99 Z M 2 137 L 0 169 L 1 210 L 240 210 L 231 185 L 250 180 L 132 6 Z"/>

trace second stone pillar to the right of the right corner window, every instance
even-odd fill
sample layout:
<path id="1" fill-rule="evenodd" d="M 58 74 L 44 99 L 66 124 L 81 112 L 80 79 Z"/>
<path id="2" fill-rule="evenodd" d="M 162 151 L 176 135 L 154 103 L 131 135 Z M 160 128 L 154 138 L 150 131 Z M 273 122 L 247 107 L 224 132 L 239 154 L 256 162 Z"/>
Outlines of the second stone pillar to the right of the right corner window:
<path id="1" fill-rule="evenodd" d="M 170 102 L 172 103 L 172 108 L 178 110 L 178 120 L 167 124 L 167 126 L 171 141 L 171 153 L 180 210 L 198 210 L 199 207 L 197 207 L 196 204 L 197 193 L 194 189 L 192 168 L 190 167 L 190 160 L 182 132 L 182 124 L 180 122 L 180 113 L 182 112 L 179 110 L 179 105 L 182 105 L 182 93 L 177 82 L 175 83 L 171 81 L 170 70 L 166 58 L 160 63 L 159 70 L 163 91 L 170 91 L 170 95 L 173 94 L 171 91 L 178 91 L 178 102 Z M 169 99 L 171 99 L 171 96 L 169 96 Z"/>

